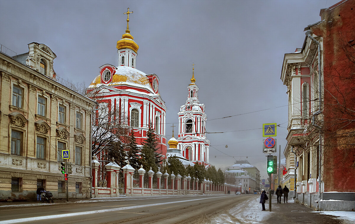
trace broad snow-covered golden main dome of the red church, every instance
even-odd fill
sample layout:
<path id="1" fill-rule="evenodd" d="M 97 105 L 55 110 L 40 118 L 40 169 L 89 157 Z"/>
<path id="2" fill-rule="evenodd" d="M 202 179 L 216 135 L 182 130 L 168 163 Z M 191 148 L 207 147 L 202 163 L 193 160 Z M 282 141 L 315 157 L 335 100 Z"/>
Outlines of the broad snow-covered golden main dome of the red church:
<path id="1" fill-rule="evenodd" d="M 149 82 L 146 74 L 137 69 L 133 69 L 127 66 L 114 67 L 115 73 L 112 76 L 112 80 L 105 84 L 101 83 L 101 75 L 98 75 L 89 85 L 88 88 L 96 88 L 100 85 L 118 86 L 118 85 L 130 85 L 136 87 L 143 87 L 153 93 L 151 83 Z"/>

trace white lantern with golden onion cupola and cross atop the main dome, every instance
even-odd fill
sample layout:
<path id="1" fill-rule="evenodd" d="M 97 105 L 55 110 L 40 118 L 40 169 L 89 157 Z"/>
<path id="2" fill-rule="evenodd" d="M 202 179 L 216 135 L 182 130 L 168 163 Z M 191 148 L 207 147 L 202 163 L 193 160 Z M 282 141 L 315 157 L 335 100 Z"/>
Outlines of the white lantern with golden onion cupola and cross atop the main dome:
<path id="1" fill-rule="evenodd" d="M 135 68 L 136 67 L 136 56 L 137 56 L 137 51 L 138 51 L 138 44 L 134 42 L 132 35 L 130 34 L 130 29 L 129 29 L 129 15 L 130 13 L 133 13 L 133 11 L 130 12 L 130 8 L 127 8 L 127 12 L 124 12 L 124 14 L 127 14 L 127 29 L 126 33 L 122 35 L 122 39 L 120 39 L 117 42 L 116 48 L 117 48 L 117 53 L 119 54 L 119 66 L 128 66 Z"/>

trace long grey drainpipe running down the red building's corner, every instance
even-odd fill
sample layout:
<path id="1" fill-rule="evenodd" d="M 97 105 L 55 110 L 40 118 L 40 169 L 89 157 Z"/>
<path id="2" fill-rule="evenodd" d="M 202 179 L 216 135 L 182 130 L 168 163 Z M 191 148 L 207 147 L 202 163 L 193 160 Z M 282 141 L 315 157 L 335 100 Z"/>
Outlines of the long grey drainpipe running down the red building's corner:
<path id="1" fill-rule="evenodd" d="M 321 132 L 321 127 L 318 126 L 315 123 L 315 118 L 318 114 L 322 112 L 322 70 L 321 70 L 321 43 L 319 43 L 316 39 L 314 39 L 311 35 L 311 31 L 308 29 L 306 31 L 306 36 L 313 40 L 317 45 L 318 45 L 318 110 L 313 114 L 312 116 L 312 125 L 316 127 L 316 129 L 319 130 L 319 173 L 318 173 L 318 195 L 319 195 L 319 200 L 321 200 L 321 174 L 322 174 L 322 132 Z"/>

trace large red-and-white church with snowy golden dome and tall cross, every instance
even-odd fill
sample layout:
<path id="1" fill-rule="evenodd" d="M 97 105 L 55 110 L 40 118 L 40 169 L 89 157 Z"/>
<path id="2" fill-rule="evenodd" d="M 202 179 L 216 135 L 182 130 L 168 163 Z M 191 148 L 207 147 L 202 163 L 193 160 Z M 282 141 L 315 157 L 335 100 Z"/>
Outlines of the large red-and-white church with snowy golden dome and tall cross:
<path id="1" fill-rule="evenodd" d="M 152 125 L 159 142 L 157 152 L 166 155 L 165 116 L 166 106 L 159 94 L 159 78 L 156 74 L 146 74 L 136 69 L 138 44 L 127 29 L 118 40 L 116 48 L 118 64 L 104 64 L 99 67 L 99 75 L 94 78 L 87 93 L 100 93 L 100 106 L 111 111 L 120 111 L 120 122 L 133 130 L 138 145 L 143 145 L 148 126 Z M 117 118 L 116 118 L 117 119 Z"/>

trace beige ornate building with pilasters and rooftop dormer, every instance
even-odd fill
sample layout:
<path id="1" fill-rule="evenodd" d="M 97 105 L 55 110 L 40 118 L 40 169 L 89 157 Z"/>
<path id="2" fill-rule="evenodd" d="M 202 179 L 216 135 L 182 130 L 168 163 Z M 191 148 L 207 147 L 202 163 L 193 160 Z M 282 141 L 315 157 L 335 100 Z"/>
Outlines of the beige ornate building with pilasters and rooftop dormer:
<path id="1" fill-rule="evenodd" d="M 69 197 L 91 197 L 91 110 L 95 102 L 56 81 L 56 55 L 44 44 L 13 57 L 0 52 L 0 199 L 65 198 L 60 172 L 70 150 Z"/>

